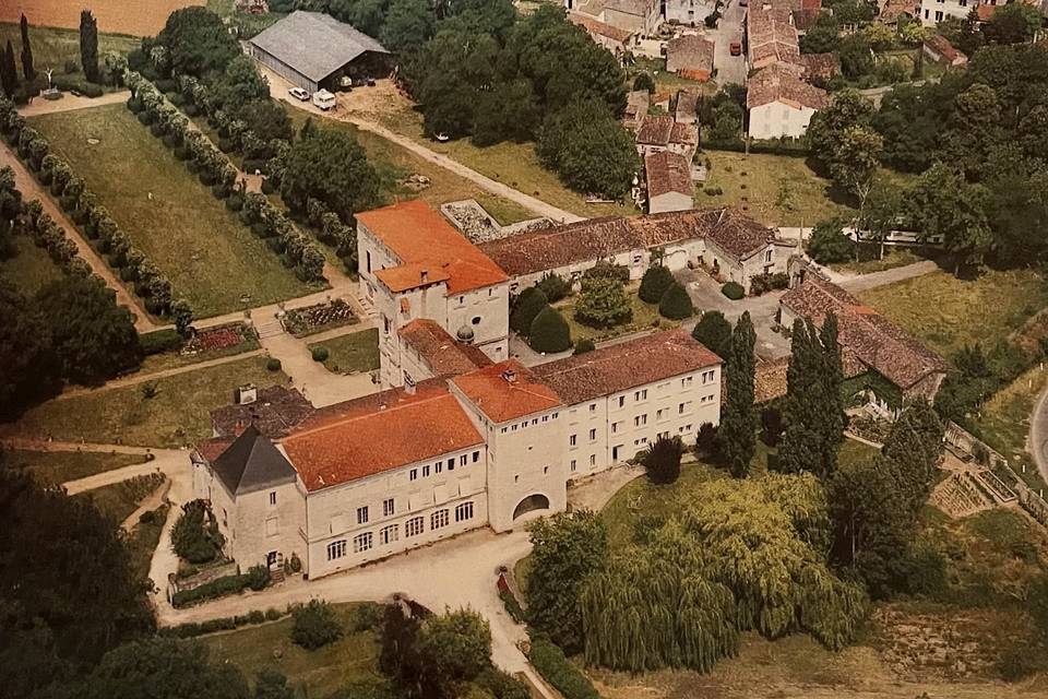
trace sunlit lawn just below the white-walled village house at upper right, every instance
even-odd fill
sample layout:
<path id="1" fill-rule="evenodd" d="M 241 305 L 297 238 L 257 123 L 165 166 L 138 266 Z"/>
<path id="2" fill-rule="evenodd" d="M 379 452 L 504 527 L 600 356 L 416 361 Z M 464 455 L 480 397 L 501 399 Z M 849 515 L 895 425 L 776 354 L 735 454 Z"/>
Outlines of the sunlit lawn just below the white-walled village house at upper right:
<path id="1" fill-rule="evenodd" d="M 769 226 L 813 226 L 851 210 L 830 199 L 831 182 L 815 175 L 803 157 L 703 151 L 708 175 L 695 188 L 695 205 L 730 204 Z M 707 194 L 719 187 L 722 194 Z"/>

